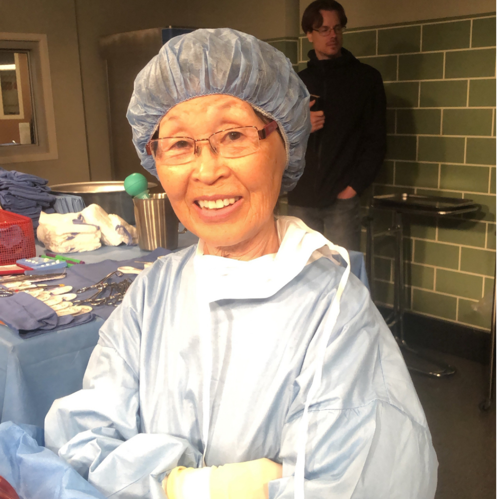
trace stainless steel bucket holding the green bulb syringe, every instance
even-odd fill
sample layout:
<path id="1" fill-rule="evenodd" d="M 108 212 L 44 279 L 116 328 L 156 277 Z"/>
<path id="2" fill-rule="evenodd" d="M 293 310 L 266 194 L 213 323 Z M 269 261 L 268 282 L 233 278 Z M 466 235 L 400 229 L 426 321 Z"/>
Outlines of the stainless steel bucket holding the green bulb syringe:
<path id="1" fill-rule="evenodd" d="M 179 219 L 166 194 L 151 194 L 150 199 L 133 198 L 133 207 L 141 250 L 177 249 Z M 180 234 L 185 232 L 187 229 Z"/>

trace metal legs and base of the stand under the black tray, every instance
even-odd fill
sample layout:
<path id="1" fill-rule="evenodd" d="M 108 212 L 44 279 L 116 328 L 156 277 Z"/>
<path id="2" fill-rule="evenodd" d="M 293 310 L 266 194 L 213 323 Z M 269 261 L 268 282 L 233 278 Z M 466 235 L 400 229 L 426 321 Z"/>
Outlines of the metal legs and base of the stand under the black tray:
<path id="1" fill-rule="evenodd" d="M 404 299 L 404 247 L 403 247 L 403 223 L 402 223 L 402 213 L 399 211 L 395 212 L 395 224 L 388 230 L 380 233 L 374 233 L 374 207 L 371 205 L 369 207 L 368 215 L 368 225 L 367 225 L 367 272 L 369 279 L 369 286 L 371 290 L 374 289 L 374 238 L 378 236 L 395 236 L 395 272 L 394 272 L 394 297 L 393 297 L 393 311 L 386 318 L 387 325 L 395 336 L 397 343 L 402 351 L 402 354 L 407 354 L 405 356 L 407 367 L 410 371 L 419 372 L 429 376 L 435 376 L 437 378 L 443 376 L 450 376 L 456 372 L 456 368 L 434 359 L 428 355 L 420 353 L 418 350 L 410 347 L 404 336 L 404 311 L 405 311 L 405 299 Z M 407 359 L 410 356 L 412 360 Z M 416 365 L 418 360 L 422 360 L 430 367 L 422 367 Z M 418 362 L 419 363 L 419 362 Z"/>

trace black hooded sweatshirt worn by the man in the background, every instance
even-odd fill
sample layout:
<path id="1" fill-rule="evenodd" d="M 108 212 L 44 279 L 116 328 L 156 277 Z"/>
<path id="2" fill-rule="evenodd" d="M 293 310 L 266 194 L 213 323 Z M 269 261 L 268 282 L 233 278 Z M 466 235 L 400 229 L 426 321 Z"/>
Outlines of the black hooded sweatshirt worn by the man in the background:
<path id="1" fill-rule="evenodd" d="M 348 50 L 326 60 L 310 50 L 308 57 L 298 75 L 310 94 L 321 97 L 325 122 L 310 134 L 305 170 L 288 203 L 325 208 L 347 186 L 360 195 L 376 177 L 386 151 L 386 97 L 379 71 Z"/>

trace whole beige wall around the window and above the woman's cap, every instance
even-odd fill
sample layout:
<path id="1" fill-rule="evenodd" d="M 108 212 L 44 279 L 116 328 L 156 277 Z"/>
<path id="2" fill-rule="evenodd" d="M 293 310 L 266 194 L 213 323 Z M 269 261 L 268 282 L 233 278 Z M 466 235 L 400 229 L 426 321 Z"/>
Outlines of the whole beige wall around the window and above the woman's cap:
<path id="1" fill-rule="evenodd" d="M 58 150 L 57 160 L 3 167 L 50 183 L 111 178 L 101 36 L 168 25 L 229 26 L 259 38 L 292 36 L 298 34 L 298 2 L 0 0 L 0 31 L 47 35 Z"/>

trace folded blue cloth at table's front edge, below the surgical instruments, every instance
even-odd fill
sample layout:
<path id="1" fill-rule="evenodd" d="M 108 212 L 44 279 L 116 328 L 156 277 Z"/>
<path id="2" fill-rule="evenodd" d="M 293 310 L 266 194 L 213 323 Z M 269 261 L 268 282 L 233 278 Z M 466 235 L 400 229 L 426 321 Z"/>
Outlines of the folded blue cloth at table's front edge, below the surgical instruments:
<path id="1" fill-rule="evenodd" d="M 54 329 L 65 329 L 93 318 L 94 314 L 90 313 L 76 317 L 72 315 L 59 317 L 43 301 L 27 293 L 14 293 L 0 298 L 0 320 L 23 338 Z"/>

